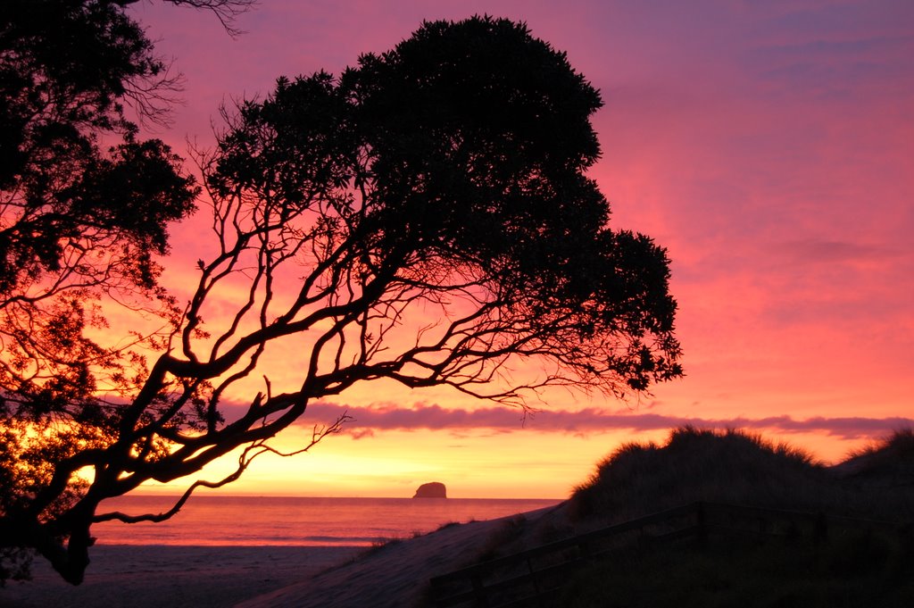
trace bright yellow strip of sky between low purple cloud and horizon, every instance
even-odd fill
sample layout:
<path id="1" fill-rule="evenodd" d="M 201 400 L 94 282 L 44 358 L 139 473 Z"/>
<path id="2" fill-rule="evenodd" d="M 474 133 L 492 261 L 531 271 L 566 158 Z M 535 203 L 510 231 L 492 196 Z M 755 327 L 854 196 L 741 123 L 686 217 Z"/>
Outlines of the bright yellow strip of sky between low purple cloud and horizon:
<path id="1" fill-rule="evenodd" d="M 298 436 L 296 437 L 296 434 Z M 239 481 L 218 490 L 221 495 L 409 497 L 426 482 L 440 481 L 454 498 L 567 498 L 587 481 L 596 464 L 622 443 L 664 443 L 668 430 L 599 432 L 387 431 L 354 439 L 328 437 L 308 453 L 289 458 L 264 454 Z M 835 463 L 866 442 L 823 438 L 820 433 L 762 436 L 786 441 Z M 279 449 L 292 450 L 301 430 L 282 433 Z M 143 485 L 139 494 L 176 495 L 193 479 L 228 475 L 231 455 L 204 473 L 168 485 Z M 186 482 L 186 483 L 185 483 Z M 210 490 L 201 488 L 198 495 Z"/>

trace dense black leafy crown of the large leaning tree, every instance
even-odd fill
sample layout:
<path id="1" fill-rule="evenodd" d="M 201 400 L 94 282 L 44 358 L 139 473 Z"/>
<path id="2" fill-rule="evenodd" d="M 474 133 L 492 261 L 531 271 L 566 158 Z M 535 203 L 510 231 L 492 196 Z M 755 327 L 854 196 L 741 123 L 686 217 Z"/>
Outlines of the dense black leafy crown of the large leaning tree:
<path id="1" fill-rule="evenodd" d="M 523 24 L 426 23 L 339 80 L 280 79 L 241 104 L 210 185 L 344 216 L 334 225 L 361 252 L 339 261 L 376 278 L 390 269 L 379 289 L 472 283 L 504 320 L 486 332 L 510 329 L 517 352 L 643 390 L 682 373 L 669 261 L 648 237 L 608 227 L 609 203 L 584 175 L 600 105 Z M 351 215 L 324 205 L 347 180 L 362 189 Z"/>

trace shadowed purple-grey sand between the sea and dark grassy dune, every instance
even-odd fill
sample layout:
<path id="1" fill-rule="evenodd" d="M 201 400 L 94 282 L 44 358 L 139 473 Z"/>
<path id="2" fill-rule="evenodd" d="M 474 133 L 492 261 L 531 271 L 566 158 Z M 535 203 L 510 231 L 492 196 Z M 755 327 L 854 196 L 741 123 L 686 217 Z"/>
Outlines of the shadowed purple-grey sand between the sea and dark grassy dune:
<path id="1" fill-rule="evenodd" d="M 366 547 L 100 546 L 73 587 L 36 560 L 0 589 L 9 608 L 375 608 L 423 605 L 432 576 L 473 561 L 503 519 Z"/>

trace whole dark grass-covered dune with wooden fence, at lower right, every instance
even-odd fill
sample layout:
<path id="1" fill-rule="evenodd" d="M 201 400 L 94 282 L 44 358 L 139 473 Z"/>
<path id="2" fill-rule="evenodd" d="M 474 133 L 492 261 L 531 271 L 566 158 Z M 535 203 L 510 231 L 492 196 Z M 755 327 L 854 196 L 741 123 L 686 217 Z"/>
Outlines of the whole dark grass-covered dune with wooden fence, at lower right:
<path id="1" fill-rule="evenodd" d="M 505 520 L 433 594 L 446 605 L 907 606 L 912 436 L 835 466 L 737 430 L 628 443 L 567 503 Z"/>

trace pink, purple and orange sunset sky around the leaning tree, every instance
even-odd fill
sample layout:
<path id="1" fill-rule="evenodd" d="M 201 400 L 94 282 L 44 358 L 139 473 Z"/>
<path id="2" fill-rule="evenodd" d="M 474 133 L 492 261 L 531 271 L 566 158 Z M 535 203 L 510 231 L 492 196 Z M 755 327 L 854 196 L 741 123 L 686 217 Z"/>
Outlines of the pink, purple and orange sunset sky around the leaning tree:
<path id="1" fill-rule="evenodd" d="M 411 496 L 441 481 L 455 497 L 564 497 L 619 443 L 685 422 L 747 428 L 830 462 L 912 424 L 909 0 L 262 0 L 235 39 L 203 12 L 141 3 L 133 14 L 185 75 L 174 124 L 156 133 L 179 151 L 213 144 L 220 103 L 262 96 L 281 75 L 338 74 L 423 20 L 525 21 L 601 91 L 591 176 L 611 225 L 654 237 L 673 261 L 685 379 L 629 402 L 550 393 L 526 420 L 444 389 L 358 386 L 314 404 L 277 443 L 291 448 L 348 408 L 345 434 L 264 458 L 223 493 Z M 199 229 L 172 231 L 178 291 Z"/>

